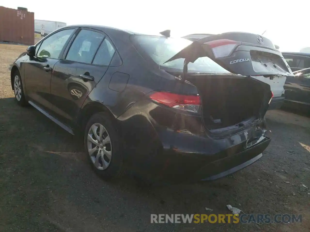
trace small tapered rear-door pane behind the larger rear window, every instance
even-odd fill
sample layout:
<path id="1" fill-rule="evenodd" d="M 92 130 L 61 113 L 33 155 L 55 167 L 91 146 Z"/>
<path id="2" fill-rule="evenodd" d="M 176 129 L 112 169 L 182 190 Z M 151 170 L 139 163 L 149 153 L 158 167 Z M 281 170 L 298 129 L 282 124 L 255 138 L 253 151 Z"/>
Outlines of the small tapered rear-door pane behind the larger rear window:
<path id="1" fill-rule="evenodd" d="M 113 58 L 114 53 L 115 49 L 113 48 L 110 41 L 108 41 L 108 39 L 105 38 L 97 51 L 93 64 L 109 65 Z"/>

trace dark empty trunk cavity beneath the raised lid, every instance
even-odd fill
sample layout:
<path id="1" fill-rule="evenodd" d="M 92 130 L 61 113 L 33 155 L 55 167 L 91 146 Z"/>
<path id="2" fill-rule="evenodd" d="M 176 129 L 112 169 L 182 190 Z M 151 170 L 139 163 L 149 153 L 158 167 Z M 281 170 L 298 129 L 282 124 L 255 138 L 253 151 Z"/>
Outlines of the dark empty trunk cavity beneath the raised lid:
<path id="1" fill-rule="evenodd" d="M 213 134 L 236 131 L 266 114 L 272 92 L 270 85 L 240 75 L 188 74 L 197 87 L 206 129 Z"/>

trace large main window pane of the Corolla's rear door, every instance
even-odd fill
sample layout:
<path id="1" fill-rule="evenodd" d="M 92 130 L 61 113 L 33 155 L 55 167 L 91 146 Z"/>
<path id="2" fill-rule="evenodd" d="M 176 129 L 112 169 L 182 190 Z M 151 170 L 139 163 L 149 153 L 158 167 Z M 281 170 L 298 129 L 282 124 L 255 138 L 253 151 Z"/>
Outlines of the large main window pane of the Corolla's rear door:
<path id="1" fill-rule="evenodd" d="M 104 35 L 90 30 L 81 30 L 74 39 L 66 60 L 91 64 Z"/>

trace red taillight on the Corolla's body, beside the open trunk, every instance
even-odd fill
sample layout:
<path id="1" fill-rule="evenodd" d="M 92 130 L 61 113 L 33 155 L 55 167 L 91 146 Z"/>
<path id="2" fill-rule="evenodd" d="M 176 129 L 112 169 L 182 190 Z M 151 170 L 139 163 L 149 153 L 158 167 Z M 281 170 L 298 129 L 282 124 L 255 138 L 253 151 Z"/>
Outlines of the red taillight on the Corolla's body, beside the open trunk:
<path id="1" fill-rule="evenodd" d="M 180 95 L 171 92 L 154 92 L 150 95 L 153 101 L 175 109 L 198 113 L 201 105 L 199 95 Z"/>

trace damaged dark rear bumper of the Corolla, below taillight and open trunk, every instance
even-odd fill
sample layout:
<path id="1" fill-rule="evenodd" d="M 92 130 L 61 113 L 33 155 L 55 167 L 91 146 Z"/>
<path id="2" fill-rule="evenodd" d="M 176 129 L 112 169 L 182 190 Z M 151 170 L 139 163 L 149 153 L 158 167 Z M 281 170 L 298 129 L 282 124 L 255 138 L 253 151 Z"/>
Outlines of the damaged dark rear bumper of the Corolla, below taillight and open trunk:
<path id="1" fill-rule="evenodd" d="M 128 154 L 125 164 L 133 174 L 152 182 L 184 183 L 225 176 L 259 159 L 270 142 L 263 119 L 215 137 L 204 129 L 201 117 L 166 111 L 154 103 L 147 103 L 148 107 L 139 104 L 146 103 L 133 105 L 119 118 Z M 126 115 L 136 114 L 139 108 L 150 111 Z"/>

